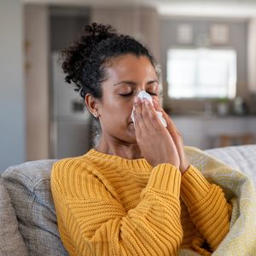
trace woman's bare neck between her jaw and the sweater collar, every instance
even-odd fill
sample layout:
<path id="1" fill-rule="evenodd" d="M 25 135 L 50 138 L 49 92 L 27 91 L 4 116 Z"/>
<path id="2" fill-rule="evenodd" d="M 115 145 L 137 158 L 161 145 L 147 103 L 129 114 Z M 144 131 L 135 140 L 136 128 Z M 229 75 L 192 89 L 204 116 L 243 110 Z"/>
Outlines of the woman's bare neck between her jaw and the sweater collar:
<path id="1" fill-rule="evenodd" d="M 106 139 L 106 137 L 102 136 L 96 150 L 104 154 L 117 155 L 129 160 L 143 158 L 137 143 L 125 143 L 116 138 Z"/>

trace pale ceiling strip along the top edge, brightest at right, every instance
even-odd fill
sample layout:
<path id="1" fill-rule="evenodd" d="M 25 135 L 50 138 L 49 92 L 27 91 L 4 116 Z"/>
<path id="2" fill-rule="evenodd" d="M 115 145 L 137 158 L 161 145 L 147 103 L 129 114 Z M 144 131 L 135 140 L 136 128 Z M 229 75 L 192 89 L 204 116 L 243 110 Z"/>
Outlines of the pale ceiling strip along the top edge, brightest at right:
<path id="1" fill-rule="evenodd" d="M 256 0 L 21 0 L 23 3 L 113 6 L 146 5 L 165 16 L 256 18 Z"/>

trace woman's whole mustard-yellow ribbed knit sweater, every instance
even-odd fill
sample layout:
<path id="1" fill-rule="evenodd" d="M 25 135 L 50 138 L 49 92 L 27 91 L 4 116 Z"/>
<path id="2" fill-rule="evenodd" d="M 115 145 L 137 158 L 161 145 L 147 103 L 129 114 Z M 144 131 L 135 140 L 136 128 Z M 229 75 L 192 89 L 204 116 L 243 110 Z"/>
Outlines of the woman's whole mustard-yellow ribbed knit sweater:
<path id="1" fill-rule="evenodd" d="M 229 231 L 230 205 L 194 166 L 150 166 L 90 149 L 60 160 L 51 189 L 70 255 L 210 255 Z"/>

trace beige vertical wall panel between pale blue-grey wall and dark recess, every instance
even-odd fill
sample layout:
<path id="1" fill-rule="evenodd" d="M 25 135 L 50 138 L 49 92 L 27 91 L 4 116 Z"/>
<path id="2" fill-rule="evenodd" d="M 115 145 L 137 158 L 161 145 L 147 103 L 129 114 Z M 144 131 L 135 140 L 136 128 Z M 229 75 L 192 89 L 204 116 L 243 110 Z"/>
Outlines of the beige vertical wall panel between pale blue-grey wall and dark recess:
<path id="1" fill-rule="evenodd" d="M 49 16 L 25 7 L 27 160 L 49 158 Z"/>

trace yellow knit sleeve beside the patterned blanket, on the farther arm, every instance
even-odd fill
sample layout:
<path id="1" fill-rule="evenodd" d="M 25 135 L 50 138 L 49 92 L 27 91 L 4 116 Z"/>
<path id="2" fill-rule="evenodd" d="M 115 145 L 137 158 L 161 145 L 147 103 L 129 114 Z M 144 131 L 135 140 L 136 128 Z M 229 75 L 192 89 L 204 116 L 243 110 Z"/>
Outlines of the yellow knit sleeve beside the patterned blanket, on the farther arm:
<path id="1" fill-rule="evenodd" d="M 182 177 L 181 197 L 196 229 L 212 251 L 216 250 L 230 230 L 230 204 L 223 190 L 208 183 L 195 166 L 189 166 Z"/>

